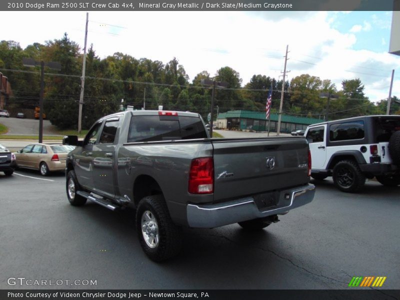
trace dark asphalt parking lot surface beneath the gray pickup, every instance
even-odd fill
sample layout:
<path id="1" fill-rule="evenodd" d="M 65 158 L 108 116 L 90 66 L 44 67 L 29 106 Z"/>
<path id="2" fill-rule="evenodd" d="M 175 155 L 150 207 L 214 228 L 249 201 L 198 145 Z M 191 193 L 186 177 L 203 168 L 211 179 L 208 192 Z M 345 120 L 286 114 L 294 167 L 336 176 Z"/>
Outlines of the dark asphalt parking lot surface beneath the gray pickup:
<path id="1" fill-rule="evenodd" d="M 133 210 L 69 205 L 63 173 L 0 173 L 0 186 L 2 289 L 32 288 L 9 277 L 96 280 L 85 288 L 341 289 L 369 275 L 387 276 L 378 298 L 400 288 L 400 188 L 374 181 L 347 194 L 324 180 L 311 203 L 260 232 L 185 229 L 182 253 L 161 264 L 141 250 Z"/>

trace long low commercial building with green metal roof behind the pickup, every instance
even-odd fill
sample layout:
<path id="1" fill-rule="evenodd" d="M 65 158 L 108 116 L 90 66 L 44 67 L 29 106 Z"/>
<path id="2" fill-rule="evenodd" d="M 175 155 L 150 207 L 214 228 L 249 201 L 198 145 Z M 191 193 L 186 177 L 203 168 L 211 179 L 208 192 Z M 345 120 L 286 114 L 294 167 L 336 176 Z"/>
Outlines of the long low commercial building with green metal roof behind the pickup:
<path id="1" fill-rule="evenodd" d="M 270 131 L 276 131 L 278 114 L 271 113 Z M 280 132 L 291 132 L 305 129 L 308 125 L 323 122 L 323 119 L 299 117 L 282 114 Z M 265 112 L 250 110 L 230 110 L 219 113 L 215 125 L 218 128 L 267 131 L 268 121 L 265 119 Z"/>

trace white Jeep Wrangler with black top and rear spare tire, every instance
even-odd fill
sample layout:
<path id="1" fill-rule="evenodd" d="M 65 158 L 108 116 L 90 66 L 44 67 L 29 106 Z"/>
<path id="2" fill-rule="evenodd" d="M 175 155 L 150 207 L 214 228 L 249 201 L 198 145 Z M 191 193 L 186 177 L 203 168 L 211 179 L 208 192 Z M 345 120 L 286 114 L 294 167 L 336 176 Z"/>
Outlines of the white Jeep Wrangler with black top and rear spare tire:
<path id="1" fill-rule="evenodd" d="M 311 177 L 333 177 L 336 187 L 359 191 L 365 178 L 400 184 L 400 115 L 369 115 L 307 127 Z"/>

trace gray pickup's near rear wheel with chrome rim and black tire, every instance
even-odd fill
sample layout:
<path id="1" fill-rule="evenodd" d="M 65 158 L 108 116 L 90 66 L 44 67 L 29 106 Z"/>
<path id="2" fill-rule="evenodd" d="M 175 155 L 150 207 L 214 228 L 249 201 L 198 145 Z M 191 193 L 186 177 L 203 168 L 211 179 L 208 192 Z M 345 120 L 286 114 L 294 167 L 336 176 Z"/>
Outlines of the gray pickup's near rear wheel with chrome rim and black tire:
<path id="1" fill-rule="evenodd" d="M 151 220 L 155 220 L 155 225 Z M 182 247 L 182 230 L 172 222 L 162 195 L 151 195 L 140 200 L 136 209 L 136 230 L 144 253 L 153 261 L 176 256 Z"/>

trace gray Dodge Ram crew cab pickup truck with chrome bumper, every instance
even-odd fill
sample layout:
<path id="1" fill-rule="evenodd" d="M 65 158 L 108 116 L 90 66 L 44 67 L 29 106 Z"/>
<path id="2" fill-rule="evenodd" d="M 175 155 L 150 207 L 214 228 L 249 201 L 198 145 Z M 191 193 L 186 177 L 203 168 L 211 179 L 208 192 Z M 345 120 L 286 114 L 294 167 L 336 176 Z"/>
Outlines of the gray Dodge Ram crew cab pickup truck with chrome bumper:
<path id="1" fill-rule="evenodd" d="M 261 229 L 310 202 L 315 187 L 304 137 L 210 138 L 198 113 L 137 110 L 104 116 L 66 159 L 72 205 L 133 207 L 144 252 L 176 255 L 182 227 L 237 222 Z"/>

